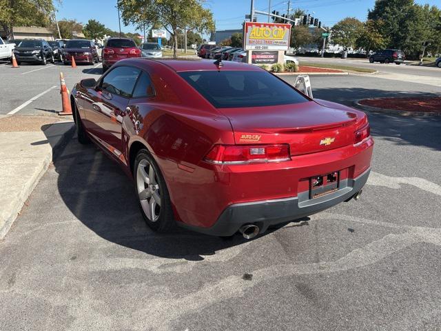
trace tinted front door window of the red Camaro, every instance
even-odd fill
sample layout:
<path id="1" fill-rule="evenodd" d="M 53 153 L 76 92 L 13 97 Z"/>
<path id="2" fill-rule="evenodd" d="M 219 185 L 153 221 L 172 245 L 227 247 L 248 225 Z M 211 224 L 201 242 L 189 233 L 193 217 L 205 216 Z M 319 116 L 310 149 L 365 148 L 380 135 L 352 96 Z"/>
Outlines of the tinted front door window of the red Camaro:
<path id="1" fill-rule="evenodd" d="M 132 67 L 116 67 L 105 75 L 100 86 L 107 92 L 130 98 L 139 72 Z"/>

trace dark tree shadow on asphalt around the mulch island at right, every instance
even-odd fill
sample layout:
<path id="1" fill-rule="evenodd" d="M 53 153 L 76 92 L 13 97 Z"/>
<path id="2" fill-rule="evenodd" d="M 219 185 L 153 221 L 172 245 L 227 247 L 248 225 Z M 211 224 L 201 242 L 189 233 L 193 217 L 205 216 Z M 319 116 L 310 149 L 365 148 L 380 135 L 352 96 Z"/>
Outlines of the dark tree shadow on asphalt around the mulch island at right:
<path id="1" fill-rule="evenodd" d="M 317 88 L 314 97 L 342 103 L 352 108 L 360 99 L 382 97 L 439 97 L 441 94 L 428 92 L 397 92 L 388 90 L 372 90 L 365 88 Z M 362 110 L 362 109 L 360 109 Z M 410 117 L 399 114 L 381 114 L 366 112 L 371 125 L 371 134 L 375 138 L 382 137 L 396 145 L 424 146 L 433 150 L 441 150 L 441 117 Z"/>

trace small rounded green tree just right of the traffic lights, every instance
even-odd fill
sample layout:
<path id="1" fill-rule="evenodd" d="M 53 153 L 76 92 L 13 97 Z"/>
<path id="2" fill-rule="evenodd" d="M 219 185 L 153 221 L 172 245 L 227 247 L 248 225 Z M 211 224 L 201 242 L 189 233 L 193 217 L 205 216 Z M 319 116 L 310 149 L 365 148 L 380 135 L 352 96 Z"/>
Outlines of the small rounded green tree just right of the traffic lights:
<path id="1" fill-rule="evenodd" d="M 343 46 L 345 50 L 355 48 L 356 41 L 362 33 L 363 23 L 355 17 L 342 19 L 332 27 L 332 41 Z"/>

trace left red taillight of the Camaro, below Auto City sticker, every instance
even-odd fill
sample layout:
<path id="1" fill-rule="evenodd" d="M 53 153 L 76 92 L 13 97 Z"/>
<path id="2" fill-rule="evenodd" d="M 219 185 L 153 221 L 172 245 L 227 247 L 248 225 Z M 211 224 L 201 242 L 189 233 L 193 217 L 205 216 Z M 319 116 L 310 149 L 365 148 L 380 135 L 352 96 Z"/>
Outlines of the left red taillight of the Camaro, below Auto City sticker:
<path id="1" fill-rule="evenodd" d="M 245 164 L 257 162 L 288 161 L 289 146 L 254 145 L 254 146 L 225 146 L 215 145 L 205 156 L 204 160 L 216 164 Z"/>

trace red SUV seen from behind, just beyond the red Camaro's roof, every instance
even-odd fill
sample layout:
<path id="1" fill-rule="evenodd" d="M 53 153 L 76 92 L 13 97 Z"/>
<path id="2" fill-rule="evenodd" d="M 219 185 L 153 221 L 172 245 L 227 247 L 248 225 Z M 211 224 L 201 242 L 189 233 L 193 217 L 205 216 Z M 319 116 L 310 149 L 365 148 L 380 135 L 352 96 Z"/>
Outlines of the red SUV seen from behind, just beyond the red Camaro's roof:
<path id="1" fill-rule="evenodd" d="M 110 38 L 103 48 L 103 72 L 117 61 L 129 57 L 141 57 L 141 50 L 132 39 Z"/>

